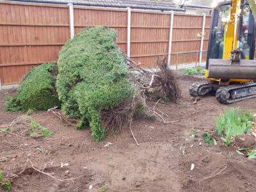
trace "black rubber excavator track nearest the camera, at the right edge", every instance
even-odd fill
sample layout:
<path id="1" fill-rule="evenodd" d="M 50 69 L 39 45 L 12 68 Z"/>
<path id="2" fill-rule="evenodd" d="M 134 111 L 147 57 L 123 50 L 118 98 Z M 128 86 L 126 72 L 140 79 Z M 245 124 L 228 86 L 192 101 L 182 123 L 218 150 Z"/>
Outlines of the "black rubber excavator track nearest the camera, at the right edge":
<path id="1" fill-rule="evenodd" d="M 232 94 L 232 92 L 239 90 L 239 89 L 243 89 L 243 88 L 250 88 L 256 86 L 256 83 L 253 82 L 249 82 L 249 83 L 243 83 L 243 84 L 234 84 L 234 85 L 230 85 L 230 86 L 223 86 L 220 87 L 218 89 L 218 91 L 216 92 L 216 99 L 224 104 L 230 104 L 232 102 L 237 102 L 239 100 L 244 100 L 244 99 L 249 99 L 252 97 L 256 97 L 256 93 L 251 94 L 251 95 L 247 95 L 246 97 L 241 97 L 238 99 L 229 99 L 230 95 Z"/>

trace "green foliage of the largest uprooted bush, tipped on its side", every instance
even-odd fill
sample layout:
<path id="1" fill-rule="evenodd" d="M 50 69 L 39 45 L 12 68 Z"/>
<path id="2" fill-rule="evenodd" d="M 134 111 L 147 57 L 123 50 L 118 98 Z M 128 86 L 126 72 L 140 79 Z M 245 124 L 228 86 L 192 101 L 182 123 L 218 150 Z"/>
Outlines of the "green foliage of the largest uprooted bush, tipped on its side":
<path id="1" fill-rule="evenodd" d="M 84 28 L 59 52 L 56 88 L 63 113 L 82 116 L 77 129 L 90 125 L 96 141 L 105 138 L 100 111 L 113 109 L 134 95 L 129 70 L 107 26 Z"/>

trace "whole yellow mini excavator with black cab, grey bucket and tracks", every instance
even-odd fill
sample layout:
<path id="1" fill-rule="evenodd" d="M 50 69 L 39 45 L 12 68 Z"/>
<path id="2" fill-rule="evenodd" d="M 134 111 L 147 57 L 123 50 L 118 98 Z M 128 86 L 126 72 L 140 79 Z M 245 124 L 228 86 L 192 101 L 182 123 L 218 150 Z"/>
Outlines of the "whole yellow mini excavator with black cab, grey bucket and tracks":
<path id="1" fill-rule="evenodd" d="M 218 3 L 212 12 L 205 83 L 193 83 L 193 97 L 216 92 L 216 99 L 230 104 L 256 97 L 255 22 L 244 0 Z"/>

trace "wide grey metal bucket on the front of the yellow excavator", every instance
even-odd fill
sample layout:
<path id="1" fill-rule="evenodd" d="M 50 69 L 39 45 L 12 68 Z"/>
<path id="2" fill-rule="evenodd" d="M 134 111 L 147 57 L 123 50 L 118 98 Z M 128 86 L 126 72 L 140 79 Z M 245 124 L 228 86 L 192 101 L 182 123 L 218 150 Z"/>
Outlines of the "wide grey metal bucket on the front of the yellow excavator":
<path id="1" fill-rule="evenodd" d="M 209 60 L 207 78 L 256 79 L 256 60 Z"/>

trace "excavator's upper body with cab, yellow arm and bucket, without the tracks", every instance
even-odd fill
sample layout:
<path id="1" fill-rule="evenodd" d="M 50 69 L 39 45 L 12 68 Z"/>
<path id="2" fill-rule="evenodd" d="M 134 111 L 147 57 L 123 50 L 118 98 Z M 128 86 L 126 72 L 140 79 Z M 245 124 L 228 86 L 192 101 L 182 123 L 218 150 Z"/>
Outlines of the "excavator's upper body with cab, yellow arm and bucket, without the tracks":
<path id="1" fill-rule="evenodd" d="M 249 4 L 233 3 L 219 4 L 212 14 L 206 63 L 209 80 L 248 82 L 256 79 L 256 63 L 244 61 L 254 58 L 255 22 L 252 11 Z"/>

